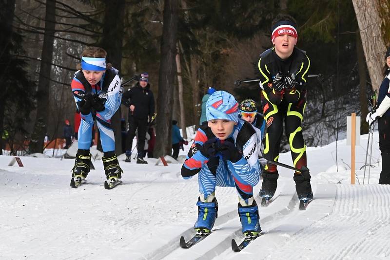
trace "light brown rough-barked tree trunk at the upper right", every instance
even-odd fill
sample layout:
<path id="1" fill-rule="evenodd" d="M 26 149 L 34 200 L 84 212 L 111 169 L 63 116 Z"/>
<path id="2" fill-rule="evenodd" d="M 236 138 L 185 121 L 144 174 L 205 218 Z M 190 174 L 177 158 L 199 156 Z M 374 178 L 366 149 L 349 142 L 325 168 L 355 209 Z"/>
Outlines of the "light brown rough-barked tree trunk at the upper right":
<path id="1" fill-rule="evenodd" d="M 364 55 L 372 89 L 378 90 L 382 82 L 382 66 L 386 52 L 383 40 L 378 0 L 352 0 L 359 24 Z"/>

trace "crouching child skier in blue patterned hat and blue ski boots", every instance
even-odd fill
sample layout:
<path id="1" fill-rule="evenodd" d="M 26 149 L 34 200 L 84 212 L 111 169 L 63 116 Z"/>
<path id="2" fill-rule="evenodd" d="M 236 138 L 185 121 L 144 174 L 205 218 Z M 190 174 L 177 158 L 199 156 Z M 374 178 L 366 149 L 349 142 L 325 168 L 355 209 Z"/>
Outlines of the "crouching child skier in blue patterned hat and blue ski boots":
<path id="1" fill-rule="evenodd" d="M 245 236 L 261 231 L 253 186 L 259 182 L 260 143 L 252 125 L 238 117 L 238 103 L 224 91 L 213 93 L 206 103 L 208 126 L 198 129 L 181 168 L 184 179 L 198 174 L 197 233 L 209 233 L 217 218 L 215 186 L 235 187 L 238 215 Z"/>

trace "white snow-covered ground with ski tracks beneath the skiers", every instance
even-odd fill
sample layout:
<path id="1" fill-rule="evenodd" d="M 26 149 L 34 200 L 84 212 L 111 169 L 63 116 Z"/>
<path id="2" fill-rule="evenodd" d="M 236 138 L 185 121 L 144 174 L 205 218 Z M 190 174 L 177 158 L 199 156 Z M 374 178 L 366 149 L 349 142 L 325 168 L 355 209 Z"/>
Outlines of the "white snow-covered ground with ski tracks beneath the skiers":
<path id="1" fill-rule="evenodd" d="M 292 171 L 278 167 L 277 197 L 260 208 L 267 233 L 240 253 L 230 247 L 241 238 L 233 188 L 216 189 L 215 232 L 179 248 L 180 236 L 194 233 L 198 196 L 197 179 L 183 180 L 181 164 L 121 162 L 123 184 L 105 190 L 97 160 L 87 184 L 73 189 L 74 159 L 21 157 L 24 167 L 10 167 L 12 157 L 0 156 L 0 259 L 390 259 L 390 186 L 377 184 L 377 132 L 370 184 L 367 172 L 363 185 L 366 145 L 362 135 L 354 186 L 345 140 L 338 142 L 338 167 L 335 143 L 308 148 L 315 200 L 306 211 L 298 210 Z M 291 165 L 290 154 L 279 162 Z"/>

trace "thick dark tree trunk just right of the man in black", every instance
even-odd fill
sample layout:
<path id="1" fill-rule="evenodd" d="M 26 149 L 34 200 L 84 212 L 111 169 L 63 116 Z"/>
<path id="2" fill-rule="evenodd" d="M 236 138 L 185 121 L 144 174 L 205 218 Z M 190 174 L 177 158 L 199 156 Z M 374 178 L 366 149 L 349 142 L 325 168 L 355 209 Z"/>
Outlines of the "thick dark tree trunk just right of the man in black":
<path id="1" fill-rule="evenodd" d="M 178 0 L 164 0 L 161 36 L 161 62 L 158 75 L 158 114 L 156 122 L 155 156 L 171 154 L 172 85 L 176 71 Z"/>

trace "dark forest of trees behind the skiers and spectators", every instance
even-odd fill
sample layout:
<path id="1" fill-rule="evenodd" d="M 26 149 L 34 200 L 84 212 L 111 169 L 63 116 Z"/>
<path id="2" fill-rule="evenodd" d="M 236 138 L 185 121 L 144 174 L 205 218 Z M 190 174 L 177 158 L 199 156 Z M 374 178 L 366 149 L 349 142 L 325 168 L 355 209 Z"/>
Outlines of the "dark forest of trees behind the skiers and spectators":
<path id="1" fill-rule="evenodd" d="M 171 153 L 171 121 L 197 126 L 208 87 L 261 111 L 258 56 L 270 48 L 280 13 L 298 24 L 297 47 L 311 59 L 304 136 L 308 146 L 340 138 L 346 116 L 361 116 L 382 81 L 390 44 L 389 0 L 2 0 L 0 1 L 0 147 L 62 138 L 76 110 L 70 82 L 82 50 L 99 46 L 124 80 L 148 72 L 156 99 L 155 156 Z M 133 82 L 134 83 L 134 82 Z M 132 85 L 124 86 L 128 89 Z M 120 154 L 121 106 L 112 118 Z M 73 125 L 73 124 L 72 124 Z M 183 132 L 185 134 L 185 131 Z M 186 138 L 186 136 L 184 136 Z M 288 149 L 287 140 L 281 146 Z M 15 152 L 15 151 L 11 151 Z M 1 154 L 1 149 L 0 149 Z"/>

